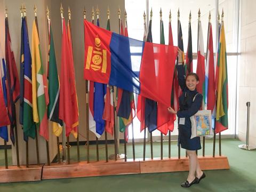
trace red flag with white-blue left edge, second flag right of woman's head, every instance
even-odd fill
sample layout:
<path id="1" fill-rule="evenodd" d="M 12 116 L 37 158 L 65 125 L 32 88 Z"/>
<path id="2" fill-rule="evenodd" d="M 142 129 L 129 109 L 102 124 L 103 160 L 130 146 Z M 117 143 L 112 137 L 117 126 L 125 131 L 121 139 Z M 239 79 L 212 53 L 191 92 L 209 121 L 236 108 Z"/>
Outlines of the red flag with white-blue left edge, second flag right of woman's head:
<path id="1" fill-rule="evenodd" d="M 214 56 L 213 56 L 213 39 L 212 25 L 209 22 L 207 35 L 207 54 L 205 66 L 205 103 L 207 109 L 212 111 L 212 118 L 216 115 L 216 97 L 215 97 L 215 81 L 214 81 Z M 214 123 L 212 123 L 214 127 Z"/>

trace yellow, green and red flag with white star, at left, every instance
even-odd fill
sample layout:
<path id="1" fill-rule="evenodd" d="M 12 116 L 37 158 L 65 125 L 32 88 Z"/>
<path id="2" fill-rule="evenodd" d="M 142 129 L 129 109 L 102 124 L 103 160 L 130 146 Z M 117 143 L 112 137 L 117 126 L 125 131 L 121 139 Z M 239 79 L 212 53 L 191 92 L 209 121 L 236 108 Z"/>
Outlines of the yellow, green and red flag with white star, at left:
<path id="1" fill-rule="evenodd" d="M 46 77 L 42 65 L 39 34 L 36 21 L 32 29 L 32 97 L 33 119 L 39 127 L 39 134 L 49 140 L 48 120 L 46 106 L 49 103 Z"/>

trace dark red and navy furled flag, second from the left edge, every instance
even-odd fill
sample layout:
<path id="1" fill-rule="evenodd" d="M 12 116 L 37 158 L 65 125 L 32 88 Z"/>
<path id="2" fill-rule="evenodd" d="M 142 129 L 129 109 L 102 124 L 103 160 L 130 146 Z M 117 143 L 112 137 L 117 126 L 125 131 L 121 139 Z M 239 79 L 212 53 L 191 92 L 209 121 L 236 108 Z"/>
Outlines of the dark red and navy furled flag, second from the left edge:
<path id="1" fill-rule="evenodd" d="M 14 53 L 12 50 L 12 42 L 9 31 L 8 18 L 5 18 L 5 59 L 6 59 L 6 78 L 7 78 L 7 106 L 9 110 L 9 117 L 11 121 L 10 126 L 10 138 L 14 145 L 14 126 L 17 124 L 16 120 L 16 110 L 15 103 L 20 97 L 20 82 L 18 77 L 18 71 L 16 67 L 16 62 L 14 58 Z"/>

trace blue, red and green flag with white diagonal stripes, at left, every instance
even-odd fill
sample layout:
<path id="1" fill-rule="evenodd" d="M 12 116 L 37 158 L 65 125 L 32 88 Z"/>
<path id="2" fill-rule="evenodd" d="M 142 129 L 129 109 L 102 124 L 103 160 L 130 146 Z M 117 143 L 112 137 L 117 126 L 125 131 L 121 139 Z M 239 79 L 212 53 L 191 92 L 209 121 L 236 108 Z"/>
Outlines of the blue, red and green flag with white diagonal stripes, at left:
<path id="1" fill-rule="evenodd" d="M 33 119 L 31 54 L 25 18 L 22 18 L 20 49 L 20 124 L 23 125 L 24 140 L 28 141 L 28 137 L 35 139 L 36 124 Z"/>

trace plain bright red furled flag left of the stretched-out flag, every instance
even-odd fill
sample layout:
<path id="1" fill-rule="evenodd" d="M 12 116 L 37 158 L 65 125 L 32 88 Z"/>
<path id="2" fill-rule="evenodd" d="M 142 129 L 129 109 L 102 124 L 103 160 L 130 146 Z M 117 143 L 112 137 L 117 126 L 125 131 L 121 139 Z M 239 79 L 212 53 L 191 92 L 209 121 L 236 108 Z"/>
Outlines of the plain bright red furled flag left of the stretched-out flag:
<path id="1" fill-rule="evenodd" d="M 75 73 L 72 60 L 73 56 L 71 54 L 65 19 L 63 19 L 59 118 L 66 124 L 66 136 L 70 132 L 75 132 L 74 129 L 78 125 Z"/>

